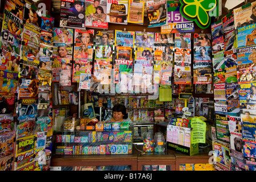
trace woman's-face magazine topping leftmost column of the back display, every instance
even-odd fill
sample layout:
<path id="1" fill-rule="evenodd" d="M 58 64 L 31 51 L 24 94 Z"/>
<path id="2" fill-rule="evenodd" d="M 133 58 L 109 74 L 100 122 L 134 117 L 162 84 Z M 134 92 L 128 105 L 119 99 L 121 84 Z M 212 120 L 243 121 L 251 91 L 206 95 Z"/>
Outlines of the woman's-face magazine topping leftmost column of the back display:
<path id="1" fill-rule="evenodd" d="M 53 43 L 73 44 L 73 29 L 54 27 Z"/>

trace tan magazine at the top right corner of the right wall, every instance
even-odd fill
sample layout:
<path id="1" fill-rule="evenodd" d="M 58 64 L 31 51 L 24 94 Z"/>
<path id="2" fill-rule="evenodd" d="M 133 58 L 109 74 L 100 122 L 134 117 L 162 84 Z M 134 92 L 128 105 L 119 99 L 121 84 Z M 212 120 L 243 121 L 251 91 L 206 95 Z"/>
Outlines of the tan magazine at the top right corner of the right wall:
<path id="1" fill-rule="evenodd" d="M 245 27 L 249 24 L 256 23 L 255 16 L 253 15 L 253 7 L 256 6 L 256 2 L 247 3 L 247 5 L 238 7 L 233 10 L 234 12 L 234 28 Z"/>

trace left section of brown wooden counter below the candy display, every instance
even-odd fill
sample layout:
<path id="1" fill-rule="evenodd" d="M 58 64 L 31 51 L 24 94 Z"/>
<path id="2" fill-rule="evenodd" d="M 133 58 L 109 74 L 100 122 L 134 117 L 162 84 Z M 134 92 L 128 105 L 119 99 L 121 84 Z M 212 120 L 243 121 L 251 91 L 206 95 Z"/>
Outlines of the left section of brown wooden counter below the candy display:
<path id="1" fill-rule="evenodd" d="M 137 171 L 137 154 L 131 155 L 53 155 L 52 167 L 70 166 L 131 166 Z"/>

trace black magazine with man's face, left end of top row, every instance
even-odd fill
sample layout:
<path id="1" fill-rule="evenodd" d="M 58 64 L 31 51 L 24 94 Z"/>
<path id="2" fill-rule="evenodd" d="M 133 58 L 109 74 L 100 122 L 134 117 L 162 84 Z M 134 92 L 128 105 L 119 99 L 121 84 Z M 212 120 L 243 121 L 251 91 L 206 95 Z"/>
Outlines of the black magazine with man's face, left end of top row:
<path id="1" fill-rule="evenodd" d="M 85 0 L 60 3 L 60 27 L 85 29 Z"/>

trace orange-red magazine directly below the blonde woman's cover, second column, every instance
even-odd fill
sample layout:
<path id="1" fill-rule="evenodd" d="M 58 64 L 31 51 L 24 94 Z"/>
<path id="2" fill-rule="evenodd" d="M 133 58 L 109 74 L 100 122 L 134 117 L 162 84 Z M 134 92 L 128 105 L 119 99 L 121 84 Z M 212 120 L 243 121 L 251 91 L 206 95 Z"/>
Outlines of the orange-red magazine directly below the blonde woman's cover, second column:
<path id="1" fill-rule="evenodd" d="M 75 43 L 73 58 L 92 60 L 93 44 Z"/>

